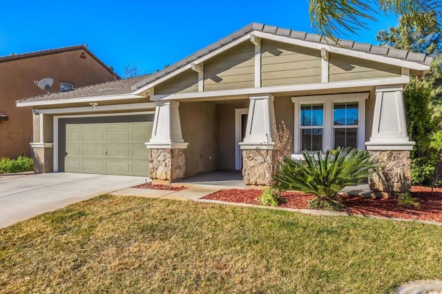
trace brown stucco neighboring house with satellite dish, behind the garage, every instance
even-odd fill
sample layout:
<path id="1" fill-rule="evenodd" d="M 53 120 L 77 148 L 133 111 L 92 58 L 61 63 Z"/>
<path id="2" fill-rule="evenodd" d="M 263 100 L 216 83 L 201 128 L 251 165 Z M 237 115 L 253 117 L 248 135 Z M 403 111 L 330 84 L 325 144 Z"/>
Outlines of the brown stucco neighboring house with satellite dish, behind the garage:
<path id="1" fill-rule="evenodd" d="M 52 92 L 119 79 L 83 45 L 0 57 L 0 157 L 30 155 L 32 108 L 15 101 L 43 94 L 34 81 L 47 77 Z"/>

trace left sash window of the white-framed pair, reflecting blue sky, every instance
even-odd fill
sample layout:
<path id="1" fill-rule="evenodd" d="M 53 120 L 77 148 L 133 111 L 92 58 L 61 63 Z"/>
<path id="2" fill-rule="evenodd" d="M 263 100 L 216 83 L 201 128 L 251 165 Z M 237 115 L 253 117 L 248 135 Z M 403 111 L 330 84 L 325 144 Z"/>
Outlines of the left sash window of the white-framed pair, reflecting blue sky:
<path id="1" fill-rule="evenodd" d="M 323 149 L 324 105 L 302 104 L 300 107 L 302 150 Z"/>

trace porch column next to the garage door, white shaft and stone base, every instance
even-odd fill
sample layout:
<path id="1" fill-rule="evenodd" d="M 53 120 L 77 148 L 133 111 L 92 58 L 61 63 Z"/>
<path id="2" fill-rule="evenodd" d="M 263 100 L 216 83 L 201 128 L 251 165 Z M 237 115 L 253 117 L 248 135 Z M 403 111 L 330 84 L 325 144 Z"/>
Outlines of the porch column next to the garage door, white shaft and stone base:
<path id="1" fill-rule="evenodd" d="M 182 139 L 180 112 L 177 101 L 155 102 L 155 117 L 149 149 L 149 177 L 173 181 L 184 176 L 187 143 Z M 160 181 L 157 181 L 160 182 Z"/>

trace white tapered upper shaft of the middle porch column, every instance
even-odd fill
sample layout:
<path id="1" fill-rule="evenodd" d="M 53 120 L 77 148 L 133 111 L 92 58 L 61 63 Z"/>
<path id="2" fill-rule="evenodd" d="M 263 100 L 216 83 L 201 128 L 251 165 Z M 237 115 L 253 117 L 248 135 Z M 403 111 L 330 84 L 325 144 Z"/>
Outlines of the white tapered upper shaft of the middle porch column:
<path id="1" fill-rule="evenodd" d="M 273 148 L 273 124 L 275 110 L 273 95 L 250 95 L 249 116 L 244 141 L 241 149 Z"/>

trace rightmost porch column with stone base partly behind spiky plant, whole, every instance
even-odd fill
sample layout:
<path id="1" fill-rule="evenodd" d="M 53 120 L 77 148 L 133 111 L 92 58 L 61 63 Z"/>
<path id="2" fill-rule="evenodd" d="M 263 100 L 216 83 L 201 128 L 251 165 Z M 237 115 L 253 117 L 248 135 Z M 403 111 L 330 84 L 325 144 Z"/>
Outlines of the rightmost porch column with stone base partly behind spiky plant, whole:
<path id="1" fill-rule="evenodd" d="M 414 141 L 407 137 L 402 85 L 376 87 L 372 137 L 365 145 L 381 164 L 381 169 L 369 176 L 375 195 L 410 191 L 410 150 Z"/>

